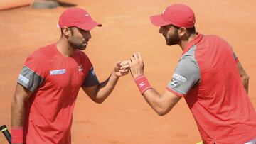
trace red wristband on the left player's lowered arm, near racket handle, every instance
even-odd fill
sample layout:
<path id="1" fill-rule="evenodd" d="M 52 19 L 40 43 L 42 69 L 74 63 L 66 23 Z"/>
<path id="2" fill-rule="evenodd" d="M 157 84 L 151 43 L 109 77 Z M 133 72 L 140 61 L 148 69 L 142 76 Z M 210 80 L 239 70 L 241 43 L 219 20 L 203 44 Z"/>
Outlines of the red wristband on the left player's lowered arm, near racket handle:
<path id="1" fill-rule="evenodd" d="M 11 143 L 23 143 L 23 127 L 11 127 Z"/>

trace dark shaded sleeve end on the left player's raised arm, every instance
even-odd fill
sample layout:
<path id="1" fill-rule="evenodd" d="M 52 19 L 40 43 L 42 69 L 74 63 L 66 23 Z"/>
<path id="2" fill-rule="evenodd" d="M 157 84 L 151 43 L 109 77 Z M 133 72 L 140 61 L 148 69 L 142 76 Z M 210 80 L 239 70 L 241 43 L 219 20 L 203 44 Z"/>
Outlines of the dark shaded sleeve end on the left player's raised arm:
<path id="1" fill-rule="evenodd" d="M 100 82 L 97 79 L 97 76 L 93 70 L 93 67 L 90 68 L 90 70 L 85 78 L 85 81 L 82 83 L 82 87 L 92 87 L 99 83 Z"/>

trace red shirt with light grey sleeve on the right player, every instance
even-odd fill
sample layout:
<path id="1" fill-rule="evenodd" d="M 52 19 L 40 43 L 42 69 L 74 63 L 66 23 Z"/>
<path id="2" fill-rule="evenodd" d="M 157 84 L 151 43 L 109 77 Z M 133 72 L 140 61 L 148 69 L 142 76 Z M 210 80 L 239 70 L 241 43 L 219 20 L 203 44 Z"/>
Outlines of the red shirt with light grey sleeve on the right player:
<path id="1" fill-rule="evenodd" d="M 256 138 L 256 112 L 236 62 L 225 40 L 198 33 L 166 88 L 185 97 L 204 143 L 241 144 Z"/>

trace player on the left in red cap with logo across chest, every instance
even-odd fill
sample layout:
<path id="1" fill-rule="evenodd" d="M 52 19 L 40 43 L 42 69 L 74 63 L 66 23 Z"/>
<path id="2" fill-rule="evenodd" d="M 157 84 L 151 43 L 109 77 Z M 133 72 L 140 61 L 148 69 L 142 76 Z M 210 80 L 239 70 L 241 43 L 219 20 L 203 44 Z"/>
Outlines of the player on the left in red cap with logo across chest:
<path id="1" fill-rule="evenodd" d="M 129 73 L 117 62 L 105 82 L 99 82 L 85 50 L 90 30 L 101 26 L 87 11 L 70 8 L 62 13 L 57 43 L 30 55 L 18 76 L 11 103 L 12 143 L 71 143 L 70 128 L 80 87 L 101 104 L 120 76 Z"/>

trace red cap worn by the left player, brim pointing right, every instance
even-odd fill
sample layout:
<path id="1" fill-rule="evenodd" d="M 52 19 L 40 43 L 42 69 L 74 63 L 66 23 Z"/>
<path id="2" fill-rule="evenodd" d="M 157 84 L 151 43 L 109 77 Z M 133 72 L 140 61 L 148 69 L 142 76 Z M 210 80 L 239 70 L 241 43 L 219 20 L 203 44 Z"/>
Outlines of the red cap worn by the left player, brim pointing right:
<path id="1" fill-rule="evenodd" d="M 63 26 L 77 26 L 83 30 L 90 31 L 95 26 L 102 26 L 102 24 L 93 21 L 90 14 L 84 9 L 73 7 L 61 14 L 58 27 L 63 28 Z"/>

